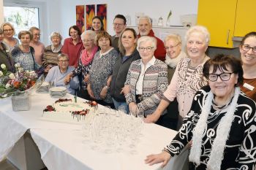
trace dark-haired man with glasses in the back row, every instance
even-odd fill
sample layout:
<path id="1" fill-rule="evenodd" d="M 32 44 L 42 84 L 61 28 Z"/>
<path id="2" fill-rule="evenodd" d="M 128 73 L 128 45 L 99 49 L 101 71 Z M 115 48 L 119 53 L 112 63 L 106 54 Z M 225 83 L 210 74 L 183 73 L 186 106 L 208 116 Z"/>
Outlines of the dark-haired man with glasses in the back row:
<path id="1" fill-rule="evenodd" d="M 113 29 L 116 32 L 116 35 L 111 36 L 111 44 L 112 47 L 114 47 L 119 52 L 118 47 L 118 40 L 121 35 L 121 31 L 124 30 L 124 28 L 127 27 L 127 19 L 124 17 L 124 15 L 116 15 L 113 20 Z"/>

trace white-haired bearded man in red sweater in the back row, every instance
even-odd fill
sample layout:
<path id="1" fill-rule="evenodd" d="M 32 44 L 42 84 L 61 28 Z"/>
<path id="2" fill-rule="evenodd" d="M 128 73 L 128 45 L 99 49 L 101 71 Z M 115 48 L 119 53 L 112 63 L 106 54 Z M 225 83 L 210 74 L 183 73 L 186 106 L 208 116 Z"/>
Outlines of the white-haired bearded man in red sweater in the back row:
<path id="1" fill-rule="evenodd" d="M 154 56 L 161 61 L 165 61 L 166 51 L 164 42 L 162 42 L 161 39 L 157 38 L 157 36 L 154 36 L 151 20 L 148 16 L 143 15 L 139 18 L 138 31 L 138 38 L 140 38 L 140 36 L 153 36 L 157 39 L 157 50 L 154 51 Z"/>

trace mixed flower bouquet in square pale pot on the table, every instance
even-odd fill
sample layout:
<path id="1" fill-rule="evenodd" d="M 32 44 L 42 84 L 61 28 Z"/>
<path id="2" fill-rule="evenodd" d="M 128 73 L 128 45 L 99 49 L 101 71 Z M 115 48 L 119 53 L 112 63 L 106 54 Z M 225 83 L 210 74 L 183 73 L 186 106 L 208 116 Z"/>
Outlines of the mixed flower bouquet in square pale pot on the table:
<path id="1" fill-rule="evenodd" d="M 29 90 L 34 88 L 37 74 L 34 71 L 24 71 L 19 63 L 15 64 L 15 73 L 8 72 L 4 64 L 1 64 L 1 69 L 0 98 L 12 96 L 14 111 L 29 110 Z"/>

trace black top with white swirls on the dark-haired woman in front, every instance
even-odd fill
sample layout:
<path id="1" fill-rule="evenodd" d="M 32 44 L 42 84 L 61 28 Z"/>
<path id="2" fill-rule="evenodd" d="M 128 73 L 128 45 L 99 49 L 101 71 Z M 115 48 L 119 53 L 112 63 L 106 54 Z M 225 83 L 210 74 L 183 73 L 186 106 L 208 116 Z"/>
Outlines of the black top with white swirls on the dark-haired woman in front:
<path id="1" fill-rule="evenodd" d="M 206 96 L 210 87 L 204 86 L 195 94 L 191 110 L 184 118 L 184 124 L 181 126 L 178 134 L 167 146 L 170 154 L 178 155 L 186 144 L 192 139 L 192 131 L 200 117 L 201 109 L 205 104 Z M 206 169 L 211 147 L 217 136 L 217 127 L 220 120 L 227 112 L 227 108 L 214 110 L 208 116 L 206 131 L 203 134 L 202 153 L 200 156 L 200 165 L 192 169 Z M 234 120 L 230 128 L 230 134 L 226 142 L 221 169 L 255 169 L 256 163 L 256 104 L 252 99 L 241 92 L 238 97 L 238 104 L 234 113 Z"/>

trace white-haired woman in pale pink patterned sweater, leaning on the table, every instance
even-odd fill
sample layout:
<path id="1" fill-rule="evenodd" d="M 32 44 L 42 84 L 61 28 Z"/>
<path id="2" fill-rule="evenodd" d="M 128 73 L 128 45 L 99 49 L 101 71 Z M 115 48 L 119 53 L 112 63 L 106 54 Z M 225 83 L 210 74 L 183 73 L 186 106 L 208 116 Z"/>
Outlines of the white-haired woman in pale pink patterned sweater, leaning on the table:
<path id="1" fill-rule="evenodd" d="M 183 118 L 189 112 L 193 97 L 197 90 L 207 85 L 203 78 L 203 64 L 209 59 L 206 56 L 210 35 L 203 26 L 193 26 L 186 33 L 188 58 L 183 58 L 176 66 L 173 78 L 164 93 L 156 112 L 146 118 L 146 123 L 155 123 L 171 101 L 178 101 L 178 128 L 181 127 Z"/>

